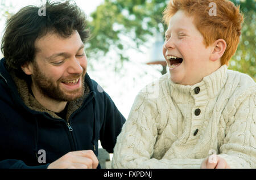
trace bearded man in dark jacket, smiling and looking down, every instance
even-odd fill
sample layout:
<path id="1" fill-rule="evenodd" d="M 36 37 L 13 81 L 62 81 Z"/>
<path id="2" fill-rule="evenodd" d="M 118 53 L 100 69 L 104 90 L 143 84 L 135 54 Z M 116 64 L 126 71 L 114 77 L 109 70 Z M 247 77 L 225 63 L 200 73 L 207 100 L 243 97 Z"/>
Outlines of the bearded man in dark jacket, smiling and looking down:
<path id="1" fill-rule="evenodd" d="M 125 118 L 86 73 L 85 15 L 69 2 L 27 6 L 6 25 L 0 62 L 0 168 L 100 168 Z"/>

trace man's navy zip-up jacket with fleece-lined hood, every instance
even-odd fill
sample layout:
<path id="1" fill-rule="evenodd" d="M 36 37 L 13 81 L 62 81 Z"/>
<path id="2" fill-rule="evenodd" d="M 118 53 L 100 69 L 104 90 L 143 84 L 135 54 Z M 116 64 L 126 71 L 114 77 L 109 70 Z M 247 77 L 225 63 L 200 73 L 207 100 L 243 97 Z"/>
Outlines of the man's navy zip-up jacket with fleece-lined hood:
<path id="1" fill-rule="evenodd" d="M 98 156 L 98 140 L 113 153 L 125 118 L 109 95 L 98 91 L 98 84 L 88 74 L 88 95 L 65 121 L 28 108 L 5 61 L 0 61 L 0 168 L 47 168 L 71 151 L 92 149 Z M 39 158 L 42 151 L 45 162 Z"/>

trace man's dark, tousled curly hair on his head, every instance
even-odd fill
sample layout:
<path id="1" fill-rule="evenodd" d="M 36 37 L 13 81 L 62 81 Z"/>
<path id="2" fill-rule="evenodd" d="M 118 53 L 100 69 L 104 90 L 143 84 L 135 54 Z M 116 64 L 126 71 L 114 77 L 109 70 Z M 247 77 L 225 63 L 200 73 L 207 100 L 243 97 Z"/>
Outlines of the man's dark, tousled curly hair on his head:
<path id="1" fill-rule="evenodd" d="M 35 41 L 49 32 L 69 37 L 77 31 L 82 42 L 89 37 L 86 16 L 76 3 L 46 2 L 46 16 L 39 16 L 41 7 L 26 6 L 7 20 L 1 50 L 7 70 L 21 72 L 21 65 L 35 58 Z"/>

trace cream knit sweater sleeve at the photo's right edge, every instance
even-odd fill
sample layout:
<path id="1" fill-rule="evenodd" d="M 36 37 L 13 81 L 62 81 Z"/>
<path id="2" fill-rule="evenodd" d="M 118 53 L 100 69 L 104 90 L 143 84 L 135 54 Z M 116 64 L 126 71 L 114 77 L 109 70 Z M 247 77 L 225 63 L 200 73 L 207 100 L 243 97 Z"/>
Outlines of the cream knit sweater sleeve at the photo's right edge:
<path id="1" fill-rule="evenodd" d="M 255 86 L 254 86 L 255 87 Z M 240 99 L 245 98 L 242 100 Z M 256 91 L 240 97 L 234 105 L 234 122 L 220 147 L 220 157 L 230 168 L 256 168 Z"/>

